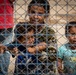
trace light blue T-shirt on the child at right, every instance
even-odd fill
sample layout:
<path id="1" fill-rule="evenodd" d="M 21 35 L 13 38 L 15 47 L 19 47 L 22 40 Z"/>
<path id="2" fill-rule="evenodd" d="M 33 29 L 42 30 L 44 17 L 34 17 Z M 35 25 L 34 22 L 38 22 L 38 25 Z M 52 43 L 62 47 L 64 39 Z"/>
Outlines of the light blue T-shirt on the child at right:
<path id="1" fill-rule="evenodd" d="M 72 50 L 69 44 L 64 44 L 58 49 L 58 58 L 63 60 L 65 73 L 76 75 L 76 50 Z"/>

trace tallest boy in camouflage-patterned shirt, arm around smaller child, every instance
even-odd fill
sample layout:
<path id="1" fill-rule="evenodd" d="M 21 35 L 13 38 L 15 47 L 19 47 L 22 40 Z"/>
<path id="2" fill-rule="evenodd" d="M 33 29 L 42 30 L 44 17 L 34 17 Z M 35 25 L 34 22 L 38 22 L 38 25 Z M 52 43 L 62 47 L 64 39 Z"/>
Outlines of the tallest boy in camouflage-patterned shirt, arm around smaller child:
<path id="1" fill-rule="evenodd" d="M 36 61 L 32 61 L 36 68 L 26 75 L 55 75 L 56 39 L 55 32 L 45 24 L 44 20 L 49 16 L 50 6 L 47 0 L 32 0 L 28 5 L 29 22 L 36 29 L 35 45 L 28 47 L 27 51 L 35 54 Z"/>

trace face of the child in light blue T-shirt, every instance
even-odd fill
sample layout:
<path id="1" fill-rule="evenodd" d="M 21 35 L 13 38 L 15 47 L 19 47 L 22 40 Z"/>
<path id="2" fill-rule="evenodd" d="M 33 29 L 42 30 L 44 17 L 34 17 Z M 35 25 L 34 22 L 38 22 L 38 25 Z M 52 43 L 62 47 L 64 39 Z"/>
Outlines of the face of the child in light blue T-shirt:
<path id="1" fill-rule="evenodd" d="M 71 27 L 69 29 L 69 36 L 67 37 L 71 44 L 76 45 L 76 27 Z"/>

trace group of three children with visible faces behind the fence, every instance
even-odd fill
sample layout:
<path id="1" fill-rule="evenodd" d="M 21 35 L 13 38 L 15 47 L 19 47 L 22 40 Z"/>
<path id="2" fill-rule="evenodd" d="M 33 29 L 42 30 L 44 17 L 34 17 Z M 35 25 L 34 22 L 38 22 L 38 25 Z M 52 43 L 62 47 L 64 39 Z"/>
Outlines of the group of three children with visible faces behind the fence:
<path id="1" fill-rule="evenodd" d="M 17 56 L 14 75 L 56 75 L 56 61 L 60 75 L 76 75 L 76 22 L 66 25 L 68 43 L 57 50 L 55 32 L 44 22 L 49 11 L 47 0 L 32 0 L 28 6 L 30 21 L 16 25 L 15 39 L 6 45 Z"/>

